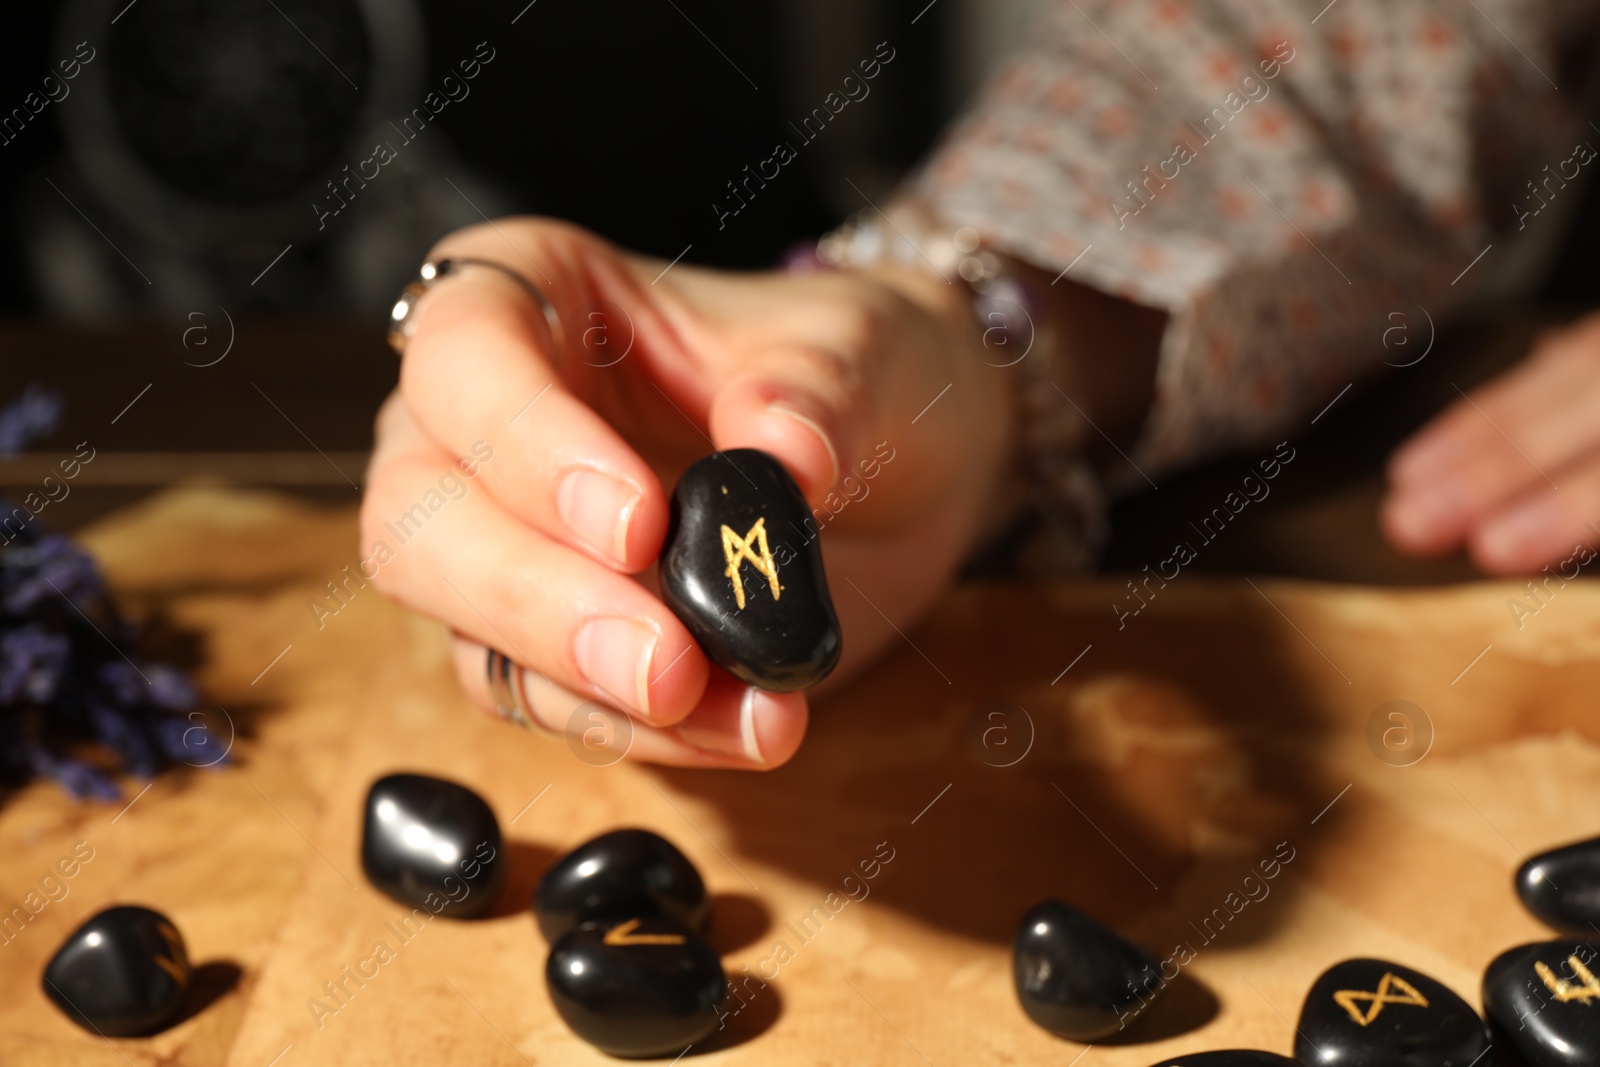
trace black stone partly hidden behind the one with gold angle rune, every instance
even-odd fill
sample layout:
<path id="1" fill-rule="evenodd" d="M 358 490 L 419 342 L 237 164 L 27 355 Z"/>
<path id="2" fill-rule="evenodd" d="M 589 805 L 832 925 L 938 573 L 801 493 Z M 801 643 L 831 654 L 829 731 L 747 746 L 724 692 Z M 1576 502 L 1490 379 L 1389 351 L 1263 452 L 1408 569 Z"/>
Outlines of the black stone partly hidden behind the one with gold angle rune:
<path id="1" fill-rule="evenodd" d="M 667 915 L 702 933 L 706 883 L 688 856 L 650 830 L 611 830 L 557 859 L 533 894 L 539 931 L 552 945 L 579 923 Z"/>

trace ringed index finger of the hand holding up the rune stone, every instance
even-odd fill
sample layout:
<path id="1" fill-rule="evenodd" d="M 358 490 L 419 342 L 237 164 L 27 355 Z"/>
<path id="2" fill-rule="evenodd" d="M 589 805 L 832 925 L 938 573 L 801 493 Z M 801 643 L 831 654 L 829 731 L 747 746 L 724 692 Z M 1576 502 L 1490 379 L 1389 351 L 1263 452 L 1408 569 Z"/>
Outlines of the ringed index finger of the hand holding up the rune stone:
<path id="1" fill-rule="evenodd" d="M 456 234 L 435 254 L 504 264 L 542 290 L 563 323 L 590 302 L 634 302 L 618 293 L 627 285 L 613 277 L 618 254 L 573 227 L 507 221 Z M 539 304 L 501 270 L 467 267 L 413 314 L 400 389 L 427 435 L 458 456 L 490 451 L 483 485 L 523 523 L 613 569 L 648 566 L 666 537 L 666 493 L 574 394 L 582 370 L 568 365 L 570 338 L 566 352 L 552 350 Z"/>

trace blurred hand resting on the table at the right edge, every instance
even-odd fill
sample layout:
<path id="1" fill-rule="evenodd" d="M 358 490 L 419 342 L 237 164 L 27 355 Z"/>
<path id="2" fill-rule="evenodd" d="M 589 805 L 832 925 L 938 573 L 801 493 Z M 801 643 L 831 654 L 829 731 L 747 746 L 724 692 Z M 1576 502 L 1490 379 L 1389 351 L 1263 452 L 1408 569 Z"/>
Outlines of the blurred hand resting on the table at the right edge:
<path id="1" fill-rule="evenodd" d="M 1389 480 L 1382 525 L 1405 552 L 1466 544 L 1485 571 L 1523 574 L 1600 547 L 1600 315 L 1422 427 Z"/>

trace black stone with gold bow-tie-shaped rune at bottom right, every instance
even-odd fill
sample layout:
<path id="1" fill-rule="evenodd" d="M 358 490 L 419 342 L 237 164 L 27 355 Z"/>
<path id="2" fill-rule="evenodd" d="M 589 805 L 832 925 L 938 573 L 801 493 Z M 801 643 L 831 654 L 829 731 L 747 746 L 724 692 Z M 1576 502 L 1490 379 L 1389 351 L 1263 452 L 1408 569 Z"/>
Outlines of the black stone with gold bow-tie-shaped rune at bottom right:
<path id="1" fill-rule="evenodd" d="M 1307 1067 L 1490 1067 L 1488 1048 L 1488 1027 L 1467 1001 L 1386 960 L 1323 971 L 1294 1037 L 1294 1059 Z"/>

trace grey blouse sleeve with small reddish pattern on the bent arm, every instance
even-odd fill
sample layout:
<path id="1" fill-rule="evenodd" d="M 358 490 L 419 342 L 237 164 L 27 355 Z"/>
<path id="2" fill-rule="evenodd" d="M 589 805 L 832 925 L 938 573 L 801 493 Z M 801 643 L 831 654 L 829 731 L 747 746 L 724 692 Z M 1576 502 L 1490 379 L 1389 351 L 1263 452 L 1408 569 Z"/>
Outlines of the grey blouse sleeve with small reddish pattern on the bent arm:
<path id="1" fill-rule="evenodd" d="M 906 192 L 1170 314 L 1154 474 L 1286 435 L 1539 224 L 1600 144 L 1558 62 L 1595 6 L 1046 0 Z"/>

